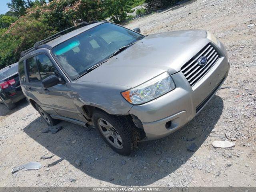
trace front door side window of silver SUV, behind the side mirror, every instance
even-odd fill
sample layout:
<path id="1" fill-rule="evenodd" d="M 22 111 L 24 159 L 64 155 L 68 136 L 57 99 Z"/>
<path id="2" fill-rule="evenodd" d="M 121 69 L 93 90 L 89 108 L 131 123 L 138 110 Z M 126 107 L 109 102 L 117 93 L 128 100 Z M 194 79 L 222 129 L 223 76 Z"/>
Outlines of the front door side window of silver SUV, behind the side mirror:
<path id="1" fill-rule="evenodd" d="M 50 75 L 58 76 L 58 72 L 52 64 L 51 60 L 48 58 L 48 56 L 46 56 L 45 54 L 41 54 L 37 55 L 36 59 L 42 80 L 44 80 Z"/>

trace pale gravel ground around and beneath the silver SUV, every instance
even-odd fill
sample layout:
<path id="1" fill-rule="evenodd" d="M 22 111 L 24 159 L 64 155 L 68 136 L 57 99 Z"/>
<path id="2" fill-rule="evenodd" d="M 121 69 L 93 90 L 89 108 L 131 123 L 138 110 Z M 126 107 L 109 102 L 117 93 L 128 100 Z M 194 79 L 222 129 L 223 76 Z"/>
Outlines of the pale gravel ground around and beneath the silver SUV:
<path id="1" fill-rule="evenodd" d="M 255 0 L 190 1 L 133 20 L 126 27 L 143 34 L 210 30 L 230 58 L 223 89 L 184 128 L 140 143 L 128 157 L 113 152 L 93 128 L 61 122 L 62 130 L 43 134 L 46 124 L 26 100 L 10 112 L 0 105 L 0 186 L 256 186 L 255 25 Z M 234 148 L 212 147 L 226 136 L 236 140 Z M 187 150 L 192 143 L 195 152 Z M 45 154 L 54 157 L 40 159 Z M 11 174 L 30 161 L 44 167 Z"/>

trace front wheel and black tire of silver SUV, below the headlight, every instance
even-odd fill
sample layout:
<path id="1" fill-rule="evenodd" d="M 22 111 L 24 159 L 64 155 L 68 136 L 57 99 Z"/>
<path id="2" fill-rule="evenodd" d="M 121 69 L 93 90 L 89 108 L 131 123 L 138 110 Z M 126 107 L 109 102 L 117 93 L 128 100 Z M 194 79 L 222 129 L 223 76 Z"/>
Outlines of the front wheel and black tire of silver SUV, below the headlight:
<path id="1" fill-rule="evenodd" d="M 130 118 L 96 111 L 92 119 L 100 136 L 115 152 L 127 156 L 137 148 L 140 133 Z"/>

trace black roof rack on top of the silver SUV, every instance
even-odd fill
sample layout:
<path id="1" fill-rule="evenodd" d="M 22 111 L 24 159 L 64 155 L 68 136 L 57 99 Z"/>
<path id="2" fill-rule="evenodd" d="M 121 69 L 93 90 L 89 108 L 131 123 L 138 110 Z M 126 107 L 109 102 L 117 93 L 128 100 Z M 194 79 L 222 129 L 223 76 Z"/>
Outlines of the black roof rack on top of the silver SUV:
<path id="1" fill-rule="evenodd" d="M 52 35 L 52 36 L 50 36 L 50 37 L 44 39 L 44 40 L 38 41 L 38 42 L 36 42 L 36 43 L 34 44 L 33 47 L 31 47 L 31 48 L 29 48 L 29 49 L 27 49 L 27 50 L 22 51 L 22 52 L 20 53 L 20 57 L 23 57 L 23 56 L 25 56 L 26 54 L 28 54 L 28 53 L 30 53 L 30 52 L 32 52 L 32 51 L 34 51 L 34 50 L 37 50 L 40 45 L 45 44 L 46 42 L 49 42 L 49 41 L 51 41 L 51 40 L 54 40 L 54 39 L 56 39 L 56 38 L 62 36 L 62 33 L 63 33 L 63 32 L 66 32 L 66 31 L 68 31 L 68 30 L 70 30 L 70 29 L 73 29 L 73 28 L 77 28 L 78 26 L 86 26 L 86 25 L 89 25 L 89 24 L 92 24 L 92 23 L 95 23 L 95 22 L 88 23 L 88 22 L 85 22 L 85 21 L 84 21 L 84 22 L 81 22 L 80 24 L 77 24 L 77 25 L 72 26 L 72 27 L 70 27 L 70 28 L 64 29 L 64 30 L 62 30 L 62 31 L 60 31 L 60 32 L 58 32 L 58 33 L 56 33 L 56 34 L 54 34 L 54 35 Z"/>

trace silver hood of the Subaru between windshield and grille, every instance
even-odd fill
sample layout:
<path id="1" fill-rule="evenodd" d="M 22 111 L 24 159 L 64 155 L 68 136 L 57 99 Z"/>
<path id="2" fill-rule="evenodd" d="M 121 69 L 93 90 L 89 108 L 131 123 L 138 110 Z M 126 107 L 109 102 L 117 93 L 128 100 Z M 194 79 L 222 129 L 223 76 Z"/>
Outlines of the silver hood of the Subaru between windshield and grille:
<path id="1" fill-rule="evenodd" d="M 78 81 L 132 88 L 165 71 L 169 74 L 179 72 L 208 42 L 204 30 L 148 35 Z"/>

